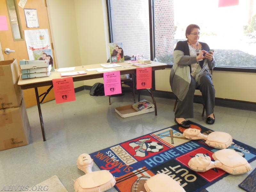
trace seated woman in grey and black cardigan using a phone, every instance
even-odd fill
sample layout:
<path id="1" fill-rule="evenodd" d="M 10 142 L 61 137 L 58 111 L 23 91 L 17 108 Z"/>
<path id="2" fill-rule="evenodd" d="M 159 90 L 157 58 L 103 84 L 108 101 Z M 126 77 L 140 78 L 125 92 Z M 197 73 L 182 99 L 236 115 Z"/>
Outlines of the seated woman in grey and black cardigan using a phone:
<path id="1" fill-rule="evenodd" d="M 170 73 L 172 92 L 178 98 L 174 121 L 183 128 L 190 127 L 185 118 L 193 118 L 193 98 L 195 89 L 199 88 L 206 109 L 206 123 L 213 124 L 215 89 L 209 73 L 209 69 L 216 65 L 213 51 L 206 43 L 198 41 L 198 25 L 188 25 L 185 35 L 188 40 L 179 41 L 174 49 L 174 65 Z"/>

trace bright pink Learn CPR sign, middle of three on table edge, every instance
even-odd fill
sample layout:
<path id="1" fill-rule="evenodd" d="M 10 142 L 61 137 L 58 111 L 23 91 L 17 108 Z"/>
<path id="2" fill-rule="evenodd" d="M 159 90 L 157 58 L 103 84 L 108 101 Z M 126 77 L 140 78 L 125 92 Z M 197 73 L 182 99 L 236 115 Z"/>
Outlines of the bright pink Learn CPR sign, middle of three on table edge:
<path id="1" fill-rule="evenodd" d="M 120 71 L 103 73 L 105 96 L 122 93 Z"/>

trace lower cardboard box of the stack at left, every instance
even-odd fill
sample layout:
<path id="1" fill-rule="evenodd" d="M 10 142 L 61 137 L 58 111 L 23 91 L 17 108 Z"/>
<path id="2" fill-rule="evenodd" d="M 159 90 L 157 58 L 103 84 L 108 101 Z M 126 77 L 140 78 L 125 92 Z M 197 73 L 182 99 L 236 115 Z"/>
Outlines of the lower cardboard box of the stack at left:
<path id="1" fill-rule="evenodd" d="M 0 109 L 0 151 L 29 144 L 30 124 L 24 100 L 19 107 Z"/>

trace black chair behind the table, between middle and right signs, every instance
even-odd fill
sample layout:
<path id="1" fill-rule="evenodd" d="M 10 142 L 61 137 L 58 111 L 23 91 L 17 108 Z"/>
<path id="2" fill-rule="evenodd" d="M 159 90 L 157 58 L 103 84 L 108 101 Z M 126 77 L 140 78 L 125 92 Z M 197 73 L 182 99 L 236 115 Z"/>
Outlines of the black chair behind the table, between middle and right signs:
<path id="1" fill-rule="evenodd" d="M 124 60 L 131 60 L 131 57 L 128 55 L 124 55 Z M 109 63 L 109 59 L 107 61 Z M 127 75 L 127 76 L 126 76 Z M 132 93 L 133 96 L 133 102 L 135 103 L 135 81 L 136 76 L 134 74 L 126 74 L 124 76 L 121 76 L 121 88 L 122 88 L 122 94 L 123 93 Z M 108 96 L 109 105 L 111 105 L 111 95 Z"/>

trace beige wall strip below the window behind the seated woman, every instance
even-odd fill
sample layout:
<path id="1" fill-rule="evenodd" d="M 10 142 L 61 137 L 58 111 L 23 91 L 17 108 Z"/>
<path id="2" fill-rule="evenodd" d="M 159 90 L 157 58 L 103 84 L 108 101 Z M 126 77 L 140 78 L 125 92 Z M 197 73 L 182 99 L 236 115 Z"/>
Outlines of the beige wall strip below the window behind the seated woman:
<path id="1" fill-rule="evenodd" d="M 171 68 L 156 71 L 156 90 L 172 91 L 169 83 Z M 212 74 L 215 97 L 256 102 L 256 74 L 228 71 L 214 71 Z M 200 91 L 196 91 L 201 95 Z"/>

